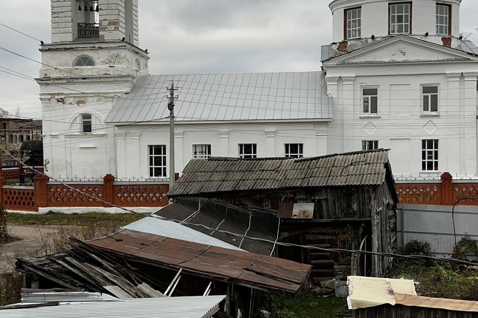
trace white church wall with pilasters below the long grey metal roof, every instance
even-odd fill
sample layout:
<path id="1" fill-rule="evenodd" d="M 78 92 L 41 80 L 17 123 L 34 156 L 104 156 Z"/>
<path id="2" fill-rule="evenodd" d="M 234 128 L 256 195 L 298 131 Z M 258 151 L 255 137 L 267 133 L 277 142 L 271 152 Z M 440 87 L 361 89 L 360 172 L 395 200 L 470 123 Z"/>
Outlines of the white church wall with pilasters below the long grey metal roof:
<path id="1" fill-rule="evenodd" d="M 239 144 L 256 144 L 257 157 L 284 157 L 284 144 L 304 144 L 304 157 L 327 154 L 328 121 L 275 123 L 175 124 L 175 170 L 181 172 L 193 158 L 193 145 L 211 145 L 211 155 L 238 157 Z M 148 177 L 148 146 L 166 145 L 168 125 L 118 126 L 115 134 L 119 177 Z M 169 157 L 168 157 L 169 160 Z M 168 170 L 169 172 L 169 170 Z"/>

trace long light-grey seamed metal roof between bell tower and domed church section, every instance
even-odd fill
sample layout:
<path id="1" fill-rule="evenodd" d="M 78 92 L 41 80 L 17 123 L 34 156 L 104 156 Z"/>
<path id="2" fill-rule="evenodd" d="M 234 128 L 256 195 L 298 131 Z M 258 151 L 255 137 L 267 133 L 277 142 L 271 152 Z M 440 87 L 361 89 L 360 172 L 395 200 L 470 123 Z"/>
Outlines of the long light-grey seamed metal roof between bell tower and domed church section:
<path id="1" fill-rule="evenodd" d="M 105 122 L 167 121 L 168 87 L 178 86 L 178 122 L 330 118 L 323 72 L 143 76 Z"/>

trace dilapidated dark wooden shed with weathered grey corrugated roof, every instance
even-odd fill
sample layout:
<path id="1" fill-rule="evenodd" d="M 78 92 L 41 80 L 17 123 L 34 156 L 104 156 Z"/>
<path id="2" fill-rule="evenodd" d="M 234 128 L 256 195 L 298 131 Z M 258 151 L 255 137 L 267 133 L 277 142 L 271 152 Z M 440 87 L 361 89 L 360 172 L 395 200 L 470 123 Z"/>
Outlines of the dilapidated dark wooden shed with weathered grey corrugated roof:
<path id="1" fill-rule="evenodd" d="M 172 199 L 214 198 L 274 213 L 278 239 L 324 248 L 390 252 L 398 198 L 388 150 L 315 158 L 193 159 Z M 278 247 L 275 255 L 313 265 L 314 282 L 336 275 L 381 276 L 390 259 Z"/>

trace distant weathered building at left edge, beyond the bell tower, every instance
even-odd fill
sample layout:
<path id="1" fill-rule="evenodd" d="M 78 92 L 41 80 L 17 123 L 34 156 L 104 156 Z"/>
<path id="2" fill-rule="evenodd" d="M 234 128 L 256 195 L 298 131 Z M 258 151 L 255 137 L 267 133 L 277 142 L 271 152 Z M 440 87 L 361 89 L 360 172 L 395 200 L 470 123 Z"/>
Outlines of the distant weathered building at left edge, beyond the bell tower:
<path id="1" fill-rule="evenodd" d="M 24 141 L 41 139 L 41 120 L 0 118 L 0 147 L 15 158 L 21 159 L 20 148 Z M 17 163 L 18 161 L 1 151 L 1 164 L 3 166 L 12 166 Z"/>

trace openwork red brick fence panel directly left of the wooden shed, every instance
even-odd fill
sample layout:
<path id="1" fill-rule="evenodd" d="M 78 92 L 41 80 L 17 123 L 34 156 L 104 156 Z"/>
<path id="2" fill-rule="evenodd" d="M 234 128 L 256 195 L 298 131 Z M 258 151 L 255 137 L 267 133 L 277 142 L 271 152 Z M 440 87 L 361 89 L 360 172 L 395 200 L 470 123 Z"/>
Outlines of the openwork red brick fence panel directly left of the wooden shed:
<path id="1" fill-rule="evenodd" d="M 115 185 L 113 202 L 126 207 L 162 207 L 168 204 L 167 185 Z"/>

